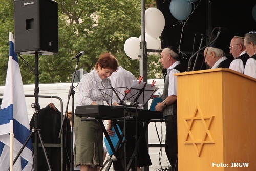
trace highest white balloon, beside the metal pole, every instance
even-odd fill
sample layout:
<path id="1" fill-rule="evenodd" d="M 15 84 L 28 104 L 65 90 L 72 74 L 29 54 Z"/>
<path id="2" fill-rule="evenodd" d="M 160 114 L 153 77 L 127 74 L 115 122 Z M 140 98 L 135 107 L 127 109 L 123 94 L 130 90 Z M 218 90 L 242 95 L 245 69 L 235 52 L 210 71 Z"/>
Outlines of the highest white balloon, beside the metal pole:
<path id="1" fill-rule="evenodd" d="M 145 11 L 145 32 L 153 38 L 160 36 L 164 29 L 163 13 L 157 8 L 148 8 Z"/>

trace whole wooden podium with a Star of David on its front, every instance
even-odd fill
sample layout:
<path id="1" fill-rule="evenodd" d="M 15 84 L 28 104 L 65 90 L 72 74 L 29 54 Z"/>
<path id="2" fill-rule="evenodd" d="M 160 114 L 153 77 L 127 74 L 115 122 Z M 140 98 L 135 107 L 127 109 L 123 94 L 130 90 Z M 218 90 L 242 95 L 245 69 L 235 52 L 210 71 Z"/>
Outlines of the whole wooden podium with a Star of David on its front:
<path id="1" fill-rule="evenodd" d="M 224 68 L 175 76 L 179 171 L 256 170 L 256 79 Z"/>

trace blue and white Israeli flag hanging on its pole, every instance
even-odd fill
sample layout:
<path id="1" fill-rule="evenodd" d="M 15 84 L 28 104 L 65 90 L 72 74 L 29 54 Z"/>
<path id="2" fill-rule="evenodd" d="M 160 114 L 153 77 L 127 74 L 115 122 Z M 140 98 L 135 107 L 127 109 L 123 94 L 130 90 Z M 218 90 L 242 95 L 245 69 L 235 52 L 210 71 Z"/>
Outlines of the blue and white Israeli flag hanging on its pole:
<path id="1" fill-rule="evenodd" d="M 8 170 L 10 167 L 10 170 L 15 171 L 31 171 L 33 163 L 31 139 L 12 167 L 12 161 L 30 135 L 30 127 L 22 76 L 18 57 L 14 52 L 11 32 L 9 32 L 9 44 L 7 77 L 0 110 L 0 170 Z"/>

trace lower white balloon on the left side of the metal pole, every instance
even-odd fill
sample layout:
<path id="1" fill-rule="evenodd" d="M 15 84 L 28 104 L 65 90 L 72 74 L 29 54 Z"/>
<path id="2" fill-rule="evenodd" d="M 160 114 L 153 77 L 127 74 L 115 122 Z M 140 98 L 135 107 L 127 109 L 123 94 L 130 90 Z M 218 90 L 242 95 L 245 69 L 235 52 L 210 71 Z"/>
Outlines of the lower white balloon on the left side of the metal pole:
<path id="1" fill-rule="evenodd" d="M 124 43 L 124 52 L 126 55 L 132 59 L 139 59 L 140 42 L 141 40 L 137 37 L 130 37 L 127 39 Z"/>

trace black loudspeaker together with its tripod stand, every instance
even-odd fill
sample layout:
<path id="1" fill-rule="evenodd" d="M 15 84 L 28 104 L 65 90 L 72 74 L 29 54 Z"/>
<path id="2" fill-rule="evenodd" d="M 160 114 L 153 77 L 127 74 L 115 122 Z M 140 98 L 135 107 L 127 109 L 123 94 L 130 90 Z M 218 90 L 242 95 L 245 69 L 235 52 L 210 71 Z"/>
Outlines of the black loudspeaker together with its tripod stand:
<path id="1" fill-rule="evenodd" d="M 34 170 L 38 170 L 38 138 L 47 165 L 51 169 L 44 142 L 38 129 L 39 118 L 39 55 L 58 54 L 58 3 L 52 0 L 14 0 L 15 53 L 35 55 L 35 124 L 31 134 L 34 138 Z M 31 135 L 30 135 L 31 136 Z M 30 137 L 28 137 L 29 139 Z M 23 148 L 22 148 L 23 149 Z"/>

